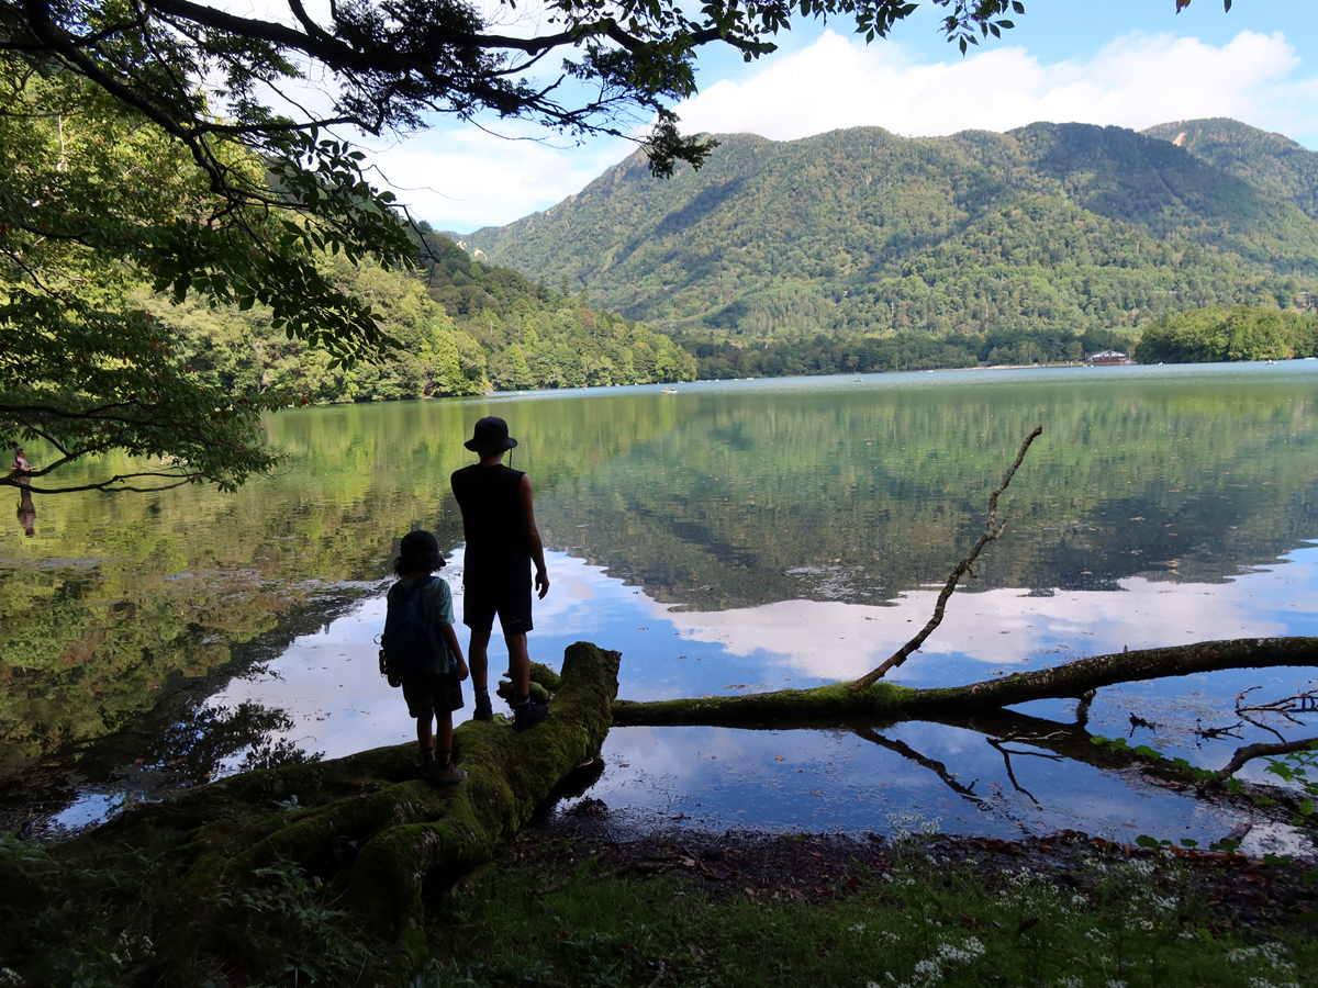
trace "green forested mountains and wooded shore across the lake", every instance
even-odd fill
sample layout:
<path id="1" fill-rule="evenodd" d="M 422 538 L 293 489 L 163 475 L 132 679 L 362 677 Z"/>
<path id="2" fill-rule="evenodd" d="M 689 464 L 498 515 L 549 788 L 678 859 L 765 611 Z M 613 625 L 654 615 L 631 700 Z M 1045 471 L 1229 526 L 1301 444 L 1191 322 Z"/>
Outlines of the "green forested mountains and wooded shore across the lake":
<path id="1" fill-rule="evenodd" d="M 1040 124 L 932 142 L 865 128 L 786 144 L 734 137 L 708 169 L 668 182 L 629 158 L 534 225 L 455 242 L 420 224 L 416 270 L 324 254 L 332 283 L 368 302 L 401 344 L 352 366 L 287 339 L 260 306 L 174 306 L 145 287 L 133 302 L 174 329 L 207 385 L 308 403 L 1066 364 L 1104 349 L 1143 364 L 1318 356 L 1318 217 L 1302 195 L 1318 155 L 1228 120 L 1197 121 L 1189 151 L 1172 142 L 1186 126 Z M 1003 154 L 1033 162 L 1035 184 L 998 175 Z M 1102 166 L 1111 195 L 1081 182 L 1086 162 Z M 807 173 L 815 191 L 800 200 Z M 890 179 L 875 191 L 871 173 Z M 988 173 L 1000 180 L 985 184 Z M 1193 178 L 1198 194 L 1166 199 L 1155 173 Z M 957 192 L 957 177 L 971 191 Z M 747 212 L 754 204 L 763 208 Z M 960 219 L 925 229 L 931 209 Z M 614 242 L 623 228 L 625 245 Z M 1232 237 L 1213 233 L 1224 228 Z M 815 270 L 838 244 L 867 266 L 853 257 Z M 585 277 L 592 257 L 602 266 Z M 718 291 L 702 295 L 696 282 L 710 278 Z M 924 294 L 907 298 L 911 286 Z"/>

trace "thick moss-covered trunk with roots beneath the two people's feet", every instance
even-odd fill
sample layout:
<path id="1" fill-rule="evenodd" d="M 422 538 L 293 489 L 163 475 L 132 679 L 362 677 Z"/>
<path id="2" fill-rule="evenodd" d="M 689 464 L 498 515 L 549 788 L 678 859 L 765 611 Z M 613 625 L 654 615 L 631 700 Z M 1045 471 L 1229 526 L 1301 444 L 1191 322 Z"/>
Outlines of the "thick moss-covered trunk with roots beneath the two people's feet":
<path id="1" fill-rule="evenodd" d="M 420 777 L 415 743 L 233 776 L 125 813 L 86 839 L 150 842 L 173 834 L 190 848 L 185 885 L 198 891 L 274 863 L 343 880 L 347 901 L 402 935 L 423 917 L 427 876 L 488 860 L 554 786 L 598 755 L 618 690 L 618 652 L 579 642 L 563 659 L 554 715 L 518 732 L 502 718 L 453 734 L 468 777 L 439 788 Z M 419 946 L 419 945 L 418 945 Z"/>

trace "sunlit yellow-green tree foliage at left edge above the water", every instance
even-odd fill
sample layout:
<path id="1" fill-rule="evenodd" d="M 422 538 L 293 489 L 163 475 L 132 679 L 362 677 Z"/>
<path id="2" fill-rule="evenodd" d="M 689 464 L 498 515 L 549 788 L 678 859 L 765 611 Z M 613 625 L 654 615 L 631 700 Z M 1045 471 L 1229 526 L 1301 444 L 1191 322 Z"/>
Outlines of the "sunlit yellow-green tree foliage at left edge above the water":
<path id="1" fill-rule="evenodd" d="M 40 439 L 57 451 L 30 478 L 36 493 L 200 478 L 233 486 L 268 468 L 256 412 L 269 403 L 203 386 L 153 314 L 128 304 L 142 278 L 169 286 L 188 238 L 199 252 L 210 246 L 210 257 L 190 256 L 198 287 L 232 298 L 231 281 L 253 266 L 236 262 L 249 234 L 229 234 L 260 217 L 216 219 L 181 149 L 80 80 L 21 74 L 13 62 L 5 70 L 0 444 Z M 223 153 L 232 169 L 253 170 L 241 149 Z M 154 462 L 75 487 L 54 477 L 115 448 Z"/>

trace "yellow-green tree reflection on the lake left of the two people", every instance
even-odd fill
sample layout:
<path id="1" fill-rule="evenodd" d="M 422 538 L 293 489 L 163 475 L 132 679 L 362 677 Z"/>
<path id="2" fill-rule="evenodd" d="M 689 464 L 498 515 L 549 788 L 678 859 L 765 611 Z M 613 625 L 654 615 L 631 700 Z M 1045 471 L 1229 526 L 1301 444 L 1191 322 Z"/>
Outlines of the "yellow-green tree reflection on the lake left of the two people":
<path id="1" fill-rule="evenodd" d="M 311 456 L 239 494 L 70 495 L 41 539 L 0 543 L 0 776 L 241 668 L 235 648 L 297 626 L 290 609 L 323 618 L 369 593 L 413 524 L 456 544 L 439 494 L 418 497 L 378 433 L 339 424 L 312 424 Z"/>

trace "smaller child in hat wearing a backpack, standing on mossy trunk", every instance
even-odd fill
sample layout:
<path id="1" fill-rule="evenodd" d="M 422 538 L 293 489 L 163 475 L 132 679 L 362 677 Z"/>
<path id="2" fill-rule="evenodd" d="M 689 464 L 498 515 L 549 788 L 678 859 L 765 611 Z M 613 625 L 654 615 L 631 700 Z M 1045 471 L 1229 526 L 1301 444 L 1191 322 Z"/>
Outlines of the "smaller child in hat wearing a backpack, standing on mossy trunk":
<path id="1" fill-rule="evenodd" d="M 432 576 L 443 565 L 434 535 L 418 530 L 402 537 L 394 561 L 398 582 L 386 597 L 389 613 L 381 644 L 390 685 L 402 681 L 407 713 L 416 718 L 422 775 L 436 785 L 453 785 L 467 779 L 467 772 L 453 764 L 453 711 L 463 709 L 461 681 L 468 669 L 453 634 L 452 590 L 447 581 Z"/>

